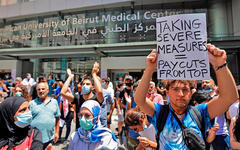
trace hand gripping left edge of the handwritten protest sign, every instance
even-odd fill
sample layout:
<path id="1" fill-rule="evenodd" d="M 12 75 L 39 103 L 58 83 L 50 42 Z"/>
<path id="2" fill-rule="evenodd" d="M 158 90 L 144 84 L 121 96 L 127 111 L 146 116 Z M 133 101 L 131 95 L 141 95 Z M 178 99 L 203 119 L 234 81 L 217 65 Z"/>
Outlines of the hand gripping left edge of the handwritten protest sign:
<path id="1" fill-rule="evenodd" d="M 146 69 L 148 69 L 149 71 L 155 71 L 157 67 L 157 57 L 157 50 L 152 50 L 152 52 L 146 58 Z"/>

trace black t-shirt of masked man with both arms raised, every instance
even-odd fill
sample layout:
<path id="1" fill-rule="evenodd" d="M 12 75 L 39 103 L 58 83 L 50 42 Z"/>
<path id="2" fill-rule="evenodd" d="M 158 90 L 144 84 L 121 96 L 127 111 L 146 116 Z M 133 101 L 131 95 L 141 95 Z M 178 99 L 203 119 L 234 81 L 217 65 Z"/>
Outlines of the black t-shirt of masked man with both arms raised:
<path id="1" fill-rule="evenodd" d="M 95 100 L 97 102 L 98 99 L 97 99 L 97 95 L 95 93 L 93 93 L 94 96 L 87 99 L 87 100 Z M 78 118 L 78 113 L 80 111 L 80 108 L 82 106 L 82 104 L 85 102 L 86 100 L 83 98 L 83 95 L 81 95 L 80 93 L 75 93 L 74 94 L 74 100 L 72 102 L 72 104 L 75 104 L 76 105 L 76 129 L 80 127 L 80 123 L 79 123 L 79 118 Z"/>

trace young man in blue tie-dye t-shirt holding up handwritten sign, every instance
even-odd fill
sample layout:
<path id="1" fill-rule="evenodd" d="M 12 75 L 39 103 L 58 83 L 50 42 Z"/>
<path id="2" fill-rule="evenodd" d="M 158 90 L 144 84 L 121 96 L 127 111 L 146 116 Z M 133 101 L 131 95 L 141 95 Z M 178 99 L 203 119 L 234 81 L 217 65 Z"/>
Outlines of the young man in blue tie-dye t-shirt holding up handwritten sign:
<path id="1" fill-rule="evenodd" d="M 238 99 L 237 88 L 230 70 L 226 64 L 226 52 L 216 48 L 214 45 L 207 45 L 210 63 L 214 66 L 218 81 L 219 95 L 214 97 L 209 103 L 196 106 L 201 113 L 205 126 L 208 126 L 209 119 L 223 114 L 229 106 Z M 153 103 L 146 98 L 149 82 L 157 66 L 158 52 L 153 50 L 146 58 L 146 69 L 142 80 L 135 93 L 135 101 L 140 109 L 150 116 L 151 123 L 157 129 L 156 121 L 159 117 L 163 105 Z M 160 145 L 159 149 L 188 149 L 183 139 L 182 129 L 178 125 L 175 116 L 189 129 L 203 138 L 196 120 L 190 116 L 188 103 L 192 96 L 193 85 L 188 80 L 168 80 L 166 81 L 167 95 L 170 99 L 169 113 L 165 120 L 165 126 L 161 133 L 157 134 Z M 170 111 L 171 110 L 171 111 Z M 159 117 L 161 118 L 161 116 Z M 151 120 L 152 119 L 152 120 Z"/>

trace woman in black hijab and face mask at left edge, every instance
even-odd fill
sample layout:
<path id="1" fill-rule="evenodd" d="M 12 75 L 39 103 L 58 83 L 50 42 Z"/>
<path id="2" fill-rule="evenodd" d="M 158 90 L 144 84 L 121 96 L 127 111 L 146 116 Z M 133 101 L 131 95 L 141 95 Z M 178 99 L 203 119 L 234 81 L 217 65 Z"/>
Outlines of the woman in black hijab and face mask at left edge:
<path id="1" fill-rule="evenodd" d="M 41 132 L 30 126 L 32 113 L 23 97 L 9 97 L 0 104 L 0 150 L 42 150 Z"/>

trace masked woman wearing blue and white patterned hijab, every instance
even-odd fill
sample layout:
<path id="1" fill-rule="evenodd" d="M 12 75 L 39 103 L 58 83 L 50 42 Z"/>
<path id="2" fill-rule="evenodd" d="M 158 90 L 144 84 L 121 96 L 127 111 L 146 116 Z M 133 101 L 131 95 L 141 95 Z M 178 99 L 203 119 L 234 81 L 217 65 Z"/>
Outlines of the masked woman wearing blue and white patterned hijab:
<path id="1" fill-rule="evenodd" d="M 100 127 L 101 107 L 97 101 L 85 101 L 79 113 L 80 128 L 70 139 L 68 150 L 117 150 L 115 135 L 108 128 Z"/>

